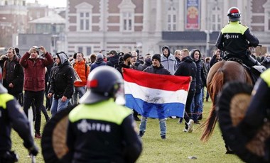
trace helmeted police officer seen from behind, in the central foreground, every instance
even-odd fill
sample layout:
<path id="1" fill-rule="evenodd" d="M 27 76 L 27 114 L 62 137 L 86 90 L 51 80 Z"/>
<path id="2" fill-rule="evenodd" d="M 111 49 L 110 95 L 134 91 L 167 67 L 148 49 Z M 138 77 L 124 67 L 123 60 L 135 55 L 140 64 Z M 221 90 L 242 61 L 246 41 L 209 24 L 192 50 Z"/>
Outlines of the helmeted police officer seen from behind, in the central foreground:
<path id="1" fill-rule="evenodd" d="M 123 98 L 121 74 L 109 66 L 94 69 L 87 93 L 69 114 L 67 145 L 71 162 L 135 162 L 141 154 L 132 111 Z M 119 96 L 121 95 L 121 96 Z"/>

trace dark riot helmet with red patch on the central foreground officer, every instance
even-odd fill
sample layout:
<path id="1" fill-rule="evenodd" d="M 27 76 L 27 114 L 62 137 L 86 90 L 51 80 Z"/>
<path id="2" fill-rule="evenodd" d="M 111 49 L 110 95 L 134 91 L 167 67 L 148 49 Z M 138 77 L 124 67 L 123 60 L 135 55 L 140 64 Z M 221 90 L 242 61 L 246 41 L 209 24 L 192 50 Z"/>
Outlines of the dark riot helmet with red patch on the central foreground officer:
<path id="1" fill-rule="evenodd" d="M 117 98 L 119 91 L 124 95 L 121 74 L 109 66 L 95 68 L 87 79 L 87 92 L 80 99 L 80 103 L 96 103 L 98 101 Z"/>

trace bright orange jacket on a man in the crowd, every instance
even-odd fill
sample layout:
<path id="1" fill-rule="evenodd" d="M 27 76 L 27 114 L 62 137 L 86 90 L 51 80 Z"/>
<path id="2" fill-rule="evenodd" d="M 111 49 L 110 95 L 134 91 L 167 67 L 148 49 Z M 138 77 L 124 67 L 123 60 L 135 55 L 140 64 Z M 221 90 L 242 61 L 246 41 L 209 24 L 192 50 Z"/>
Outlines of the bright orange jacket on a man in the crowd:
<path id="1" fill-rule="evenodd" d="M 75 64 L 73 64 L 73 68 L 79 75 L 80 79 L 82 81 L 75 81 L 74 86 L 86 86 L 88 74 L 90 73 L 90 67 L 86 65 L 85 69 L 85 60 L 82 60 L 81 62 L 75 61 Z M 86 71 L 86 72 L 85 72 Z"/>

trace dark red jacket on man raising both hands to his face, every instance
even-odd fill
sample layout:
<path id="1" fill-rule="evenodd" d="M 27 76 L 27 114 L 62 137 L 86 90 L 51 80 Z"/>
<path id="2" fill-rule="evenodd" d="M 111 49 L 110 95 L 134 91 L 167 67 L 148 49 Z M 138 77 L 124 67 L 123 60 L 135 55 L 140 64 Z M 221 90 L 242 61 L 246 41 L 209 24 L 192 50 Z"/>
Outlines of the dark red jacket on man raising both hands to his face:
<path id="1" fill-rule="evenodd" d="M 45 90 L 45 67 L 53 64 L 53 57 L 46 52 L 45 58 L 33 60 L 30 53 L 21 57 L 20 64 L 24 68 L 24 91 L 43 91 Z"/>

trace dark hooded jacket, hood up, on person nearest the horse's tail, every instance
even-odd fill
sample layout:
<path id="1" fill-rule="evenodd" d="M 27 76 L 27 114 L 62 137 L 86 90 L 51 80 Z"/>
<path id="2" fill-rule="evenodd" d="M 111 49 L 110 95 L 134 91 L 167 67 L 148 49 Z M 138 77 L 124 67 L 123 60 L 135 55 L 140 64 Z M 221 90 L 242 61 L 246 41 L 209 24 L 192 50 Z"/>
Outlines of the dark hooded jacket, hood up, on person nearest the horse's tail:
<path id="1" fill-rule="evenodd" d="M 199 60 L 195 61 L 194 60 L 194 53 L 195 52 L 199 52 Z M 203 68 L 203 65 L 204 64 L 202 62 L 202 60 L 200 60 L 200 58 L 202 57 L 201 53 L 200 53 L 200 50 L 198 49 L 193 49 L 190 51 L 190 57 L 193 58 L 195 64 L 196 64 L 196 67 L 197 67 L 197 72 L 196 72 L 196 94 L 200 94 L 200 91 L 202 89 L 202 86 L 203 84 L 206 84 L 206 72 Z"/>

